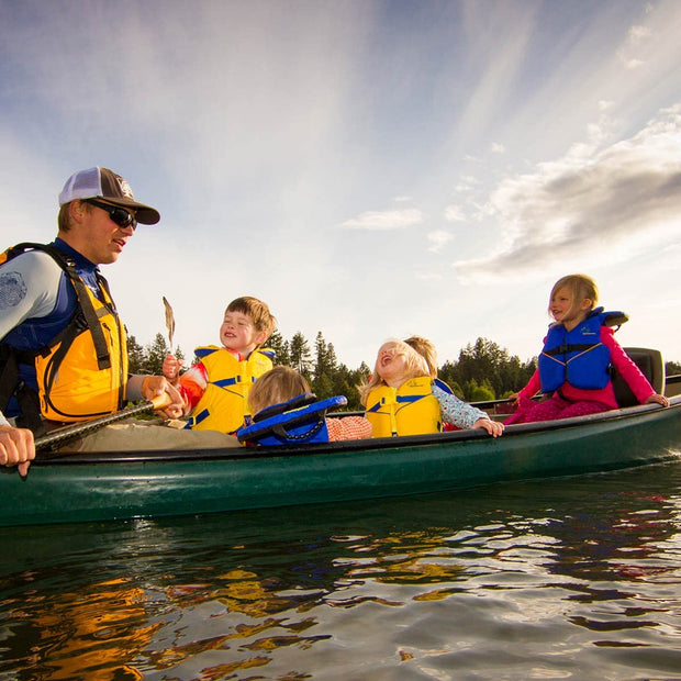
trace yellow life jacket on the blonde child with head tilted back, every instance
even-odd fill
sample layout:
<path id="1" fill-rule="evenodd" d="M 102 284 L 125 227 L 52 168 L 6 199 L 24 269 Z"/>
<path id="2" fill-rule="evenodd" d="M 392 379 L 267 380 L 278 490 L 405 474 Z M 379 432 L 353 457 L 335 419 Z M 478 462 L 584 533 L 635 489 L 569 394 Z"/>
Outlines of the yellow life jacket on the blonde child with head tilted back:
<path id="1" fill-rule="evenodd" d="M 379 386 L 367 398 L 366 416 L 372 437 L 439 433 L 440 414 L 429 376 L 410 379 L 397 389 Z"/>

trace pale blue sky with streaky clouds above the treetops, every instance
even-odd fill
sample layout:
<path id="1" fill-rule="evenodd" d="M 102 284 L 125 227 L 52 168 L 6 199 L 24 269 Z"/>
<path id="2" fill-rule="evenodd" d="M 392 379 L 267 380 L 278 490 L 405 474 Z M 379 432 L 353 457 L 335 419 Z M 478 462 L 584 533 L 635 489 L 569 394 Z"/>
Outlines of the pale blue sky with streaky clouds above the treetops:
<path id="1" fill-rule="evenodd" d="M 681 361 L 681 2 L 0 0 L 0 242 L 104 166 L 161 222 L 102 266 L 191 357 L 268 303 L 354 369 L 389 337 L 523 361 L 584 272 Z"/>

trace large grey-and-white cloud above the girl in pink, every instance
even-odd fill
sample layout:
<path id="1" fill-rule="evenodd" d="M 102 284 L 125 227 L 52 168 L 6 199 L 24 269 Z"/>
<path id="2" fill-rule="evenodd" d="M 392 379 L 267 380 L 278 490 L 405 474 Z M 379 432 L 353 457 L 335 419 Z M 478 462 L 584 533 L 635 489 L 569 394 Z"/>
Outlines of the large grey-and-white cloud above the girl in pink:
<path id="1" fill-rule="evenodd" d="M 459 261 L 464 278 L 536 272 L 567 258 L 625 258 L 680 233 L 681 104 L 599 150 L 576 145 L 536 172 L 505 179 L 488 215 L 507 241 L 495 255 Z"/>

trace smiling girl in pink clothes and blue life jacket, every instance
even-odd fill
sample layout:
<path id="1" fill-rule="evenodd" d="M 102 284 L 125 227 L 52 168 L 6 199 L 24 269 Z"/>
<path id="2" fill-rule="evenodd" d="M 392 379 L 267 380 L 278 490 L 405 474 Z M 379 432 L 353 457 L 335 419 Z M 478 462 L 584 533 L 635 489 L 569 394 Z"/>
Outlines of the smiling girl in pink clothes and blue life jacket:
<path id="1" fill-rule="evenodd" d="M 609 316 L 622 313 L 594 310 L 599 290 L 591 277 L 569 275 L 551 289 L 549 325 L 538 368 L 525 388 L 512 395 L 518 406 L 505 423 L 551 421 L 596 414 L 617 409 L 609 373 L 611 364 L 619 371 L 636 399 L 669 406 L 669 400 L 657 394 L 638 367 L 629 359 L 607 326 Z M 550 399 L 533 402 L 538 390 Z"/>

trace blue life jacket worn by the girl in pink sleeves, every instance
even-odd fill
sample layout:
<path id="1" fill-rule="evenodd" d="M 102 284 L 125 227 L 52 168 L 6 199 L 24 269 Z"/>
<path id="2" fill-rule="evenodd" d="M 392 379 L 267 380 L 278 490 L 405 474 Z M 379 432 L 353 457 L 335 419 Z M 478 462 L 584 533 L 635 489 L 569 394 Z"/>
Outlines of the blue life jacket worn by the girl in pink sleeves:
<path id="1" fill-rule="evenodd" d="M 623 312 L 596 308 L 572 331 L 562 324 L 549 326 L 538 358 L 542 392 L 558 390 L 566 381 L 574 388 L 599 390 L 611 380 L 610 350 L 601 343 L 601 326 L 623 324 Z"/>

